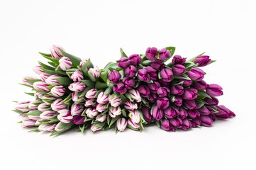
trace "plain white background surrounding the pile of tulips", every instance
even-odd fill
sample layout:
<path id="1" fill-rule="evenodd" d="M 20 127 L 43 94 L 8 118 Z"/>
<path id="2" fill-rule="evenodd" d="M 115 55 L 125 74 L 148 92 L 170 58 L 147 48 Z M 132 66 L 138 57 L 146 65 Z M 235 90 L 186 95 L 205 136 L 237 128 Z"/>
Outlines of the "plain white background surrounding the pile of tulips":
<path id="1" fill-rule="evenodd" d="M 0 169 L 256 169 L 255 1 L 0 1 Z M 175 46 L 176 54 L 206 52 L 208 84 L 237 115 L 212 128 L 142 133 L 28 133 L 13 101 L 33 98 L 18 85 L 38 52 L 62 45 L 104 67 L 147 47 Z"/>

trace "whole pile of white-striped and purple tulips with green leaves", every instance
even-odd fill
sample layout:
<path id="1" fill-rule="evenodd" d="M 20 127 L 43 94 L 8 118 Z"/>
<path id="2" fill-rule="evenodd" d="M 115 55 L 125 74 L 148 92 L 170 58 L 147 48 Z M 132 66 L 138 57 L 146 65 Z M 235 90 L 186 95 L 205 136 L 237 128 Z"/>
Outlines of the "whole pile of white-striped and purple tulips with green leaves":
<path id="1" fill-rule="evenodd" d="M 199 67 L 215 61 L 204 53 L 187 60 L 174 51 L 175 47 L 148 47 L 145 54 L 128 57 L 121 49 L 120 60 L 99 69 L 90 59 L 52 45 L 50 54 L 40 53 L 48 64 L 33 67 L 39 78 L 23 79 L 22 85 L 33 91 L 26 94 L 35 100 L 16 102 L 13 111 L 23 127 L 51 135 L 72 128 L 141 131 L 149 123 L 167 131 L 188 130 L 234 117 L 218 105 L 221 86 L 203 80 L 205 72 Z"/>

